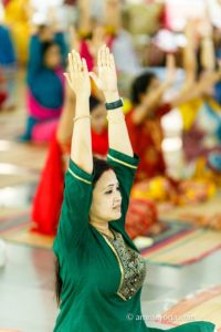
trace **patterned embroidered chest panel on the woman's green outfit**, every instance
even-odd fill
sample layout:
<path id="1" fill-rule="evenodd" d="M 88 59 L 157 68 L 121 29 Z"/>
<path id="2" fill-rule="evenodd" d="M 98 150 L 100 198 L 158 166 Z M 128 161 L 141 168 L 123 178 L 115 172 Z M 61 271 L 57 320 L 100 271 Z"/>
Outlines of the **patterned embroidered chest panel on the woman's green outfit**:
<path id="1" fill-rule="evenodd" d="M 122 282 L 117 294 L 125 301 L 130 300 L 141 288 L 146 276 L 146 263 L 141 255 L 129 248 L 119 232 L 113 231 L 115 238 L 106 235 L 105 239 L 115 252 L 122 271 Z"/>

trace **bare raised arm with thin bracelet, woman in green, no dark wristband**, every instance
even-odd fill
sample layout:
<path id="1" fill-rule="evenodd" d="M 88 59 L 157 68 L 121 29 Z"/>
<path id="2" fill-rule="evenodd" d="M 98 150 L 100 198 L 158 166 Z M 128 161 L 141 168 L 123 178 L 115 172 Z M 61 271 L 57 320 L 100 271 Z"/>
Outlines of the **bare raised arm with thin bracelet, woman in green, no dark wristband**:
<path id="1" fill-rule="evenodd" d="M 88 174 L 93 172 L 90 95 L 91 82 L 86 61 L 75 51 L 69 54 L 67 82 L 75 94 L 75 117 L 71 159 Z"/>

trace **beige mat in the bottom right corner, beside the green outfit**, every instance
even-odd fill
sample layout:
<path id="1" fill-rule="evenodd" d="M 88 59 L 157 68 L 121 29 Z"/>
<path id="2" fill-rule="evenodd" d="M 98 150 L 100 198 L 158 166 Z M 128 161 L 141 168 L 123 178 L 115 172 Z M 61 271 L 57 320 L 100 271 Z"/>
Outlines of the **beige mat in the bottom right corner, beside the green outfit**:
<path id="1" fill-rule="evenodd" d="M 161 314 L 160 322 L 180 325 L 189 321 L 209 321 L 221 332 L 221 286 L 192 294 Z"/>

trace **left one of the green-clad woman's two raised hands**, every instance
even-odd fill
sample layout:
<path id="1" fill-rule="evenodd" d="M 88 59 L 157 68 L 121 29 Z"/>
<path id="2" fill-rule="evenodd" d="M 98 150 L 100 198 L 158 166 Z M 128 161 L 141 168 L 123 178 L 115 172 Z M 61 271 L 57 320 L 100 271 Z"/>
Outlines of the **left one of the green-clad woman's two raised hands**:
<path id="1" fill-rule="evenodd" d="M 64 76 L 76 98 L 90 97 L 91 81 L 86 61 L 81 59 L 80 53 L 74 50 L 69 53 L 69 73 L 64 73 Z"/>

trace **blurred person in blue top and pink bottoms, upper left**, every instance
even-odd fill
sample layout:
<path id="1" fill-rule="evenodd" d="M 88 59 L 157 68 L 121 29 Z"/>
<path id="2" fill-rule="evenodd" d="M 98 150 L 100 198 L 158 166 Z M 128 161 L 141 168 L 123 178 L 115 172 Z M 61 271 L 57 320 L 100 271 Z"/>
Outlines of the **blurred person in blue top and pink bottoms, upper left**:
<path id="1" fill-rule="evenodd" d="M 40 25 L 38 33 L 30 40 L 28 120 L 21 141 L 50 141 L 64 102 L 64 63 L 63 33 L 53 34 L 50 27 Z"/>

